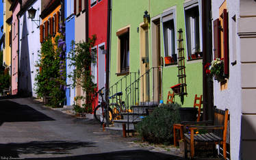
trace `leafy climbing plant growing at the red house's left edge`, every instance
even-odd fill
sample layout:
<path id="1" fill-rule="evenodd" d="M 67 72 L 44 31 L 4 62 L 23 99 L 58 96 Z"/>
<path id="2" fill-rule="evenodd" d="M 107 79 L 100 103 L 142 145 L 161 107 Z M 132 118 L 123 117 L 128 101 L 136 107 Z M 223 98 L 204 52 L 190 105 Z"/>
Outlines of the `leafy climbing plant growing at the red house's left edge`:
<path id="1" fill-rule="evenodd" d="M 92 82 L 93 77 L 90 70 L 91 64 L 96 62 L 96 57 L 91 52 L 95 40 L 96 36 L 92 36 L 88 42 L 72 42 L 72 50 L 68 55 L 68 58 L 71 59 L 70 66 L 75 66 L 73 75 L 68 75 L 68 77 L 72 77 L 74 87 L 81 87 L 86 92 L 86 97 L 80 99 L 86 101 L 83 107 L 87 113 L 92 111 L 92 95 L 97 88 L 97 85 Z"/>

